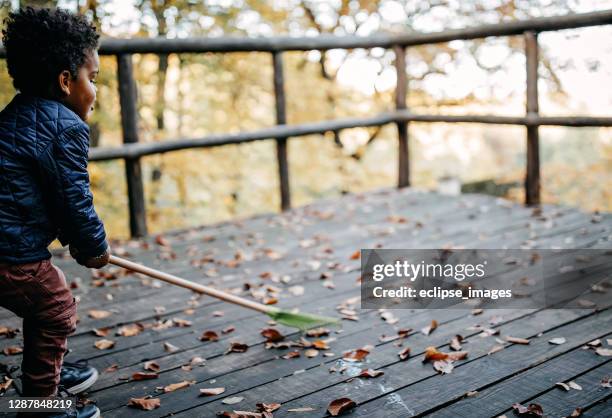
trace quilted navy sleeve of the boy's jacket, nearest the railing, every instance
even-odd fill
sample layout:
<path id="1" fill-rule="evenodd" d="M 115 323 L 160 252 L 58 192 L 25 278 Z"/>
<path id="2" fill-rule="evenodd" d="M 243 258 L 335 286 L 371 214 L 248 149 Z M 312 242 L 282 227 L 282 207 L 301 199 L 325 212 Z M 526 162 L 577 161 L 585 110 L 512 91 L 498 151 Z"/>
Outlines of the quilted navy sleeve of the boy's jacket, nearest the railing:
<path id="1" fill-rule="evenodd" d="M 89 128 L 79 123 L 61 132 L 40 156 L 40 162 L 60 242 L 70 244 L 83 257 L 95 257 L 103 254 L 108 244 L 104 224 L 93 205 L 88 151 Z"/>

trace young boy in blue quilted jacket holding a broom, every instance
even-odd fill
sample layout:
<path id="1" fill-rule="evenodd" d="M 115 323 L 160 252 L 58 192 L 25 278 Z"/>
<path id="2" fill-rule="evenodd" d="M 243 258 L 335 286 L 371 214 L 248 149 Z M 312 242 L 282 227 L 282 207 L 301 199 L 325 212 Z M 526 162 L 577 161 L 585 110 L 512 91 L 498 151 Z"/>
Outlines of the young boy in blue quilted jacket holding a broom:
<path id="1" fill-rule="evenodd" d="M 83 16 L 62 10 L 22 9 L 5 25 L 18 94 L 0 112 L 0 306 L 23 318 L 23 396 L 53 396 L 58 386 L 75 394 L 98 373 L 63 362 L 76 303 L 47 247 L 59 238 L 89 268 L 109 259 L 87 173 L 99 35 Z M 76 416 L 99 410 L 87 405 Z"/>

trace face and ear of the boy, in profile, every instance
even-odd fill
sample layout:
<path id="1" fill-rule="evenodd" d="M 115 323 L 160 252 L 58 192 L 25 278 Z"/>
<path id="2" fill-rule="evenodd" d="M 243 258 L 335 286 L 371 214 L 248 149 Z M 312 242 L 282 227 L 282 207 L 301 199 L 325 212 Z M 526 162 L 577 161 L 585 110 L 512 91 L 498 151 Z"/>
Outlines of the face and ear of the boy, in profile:
<path id="1" fill-rule="evenodd" d="M 64 71 L 59 76 L 60 88 L 64 93 L 62 103 L 68 106 L 81 119 L 86 121 L 93 111 L 96 101 L 95 80 L 100 67 L 97 51 L 87 53 L 85 63 L 78 69 L 76 78 Z"/>

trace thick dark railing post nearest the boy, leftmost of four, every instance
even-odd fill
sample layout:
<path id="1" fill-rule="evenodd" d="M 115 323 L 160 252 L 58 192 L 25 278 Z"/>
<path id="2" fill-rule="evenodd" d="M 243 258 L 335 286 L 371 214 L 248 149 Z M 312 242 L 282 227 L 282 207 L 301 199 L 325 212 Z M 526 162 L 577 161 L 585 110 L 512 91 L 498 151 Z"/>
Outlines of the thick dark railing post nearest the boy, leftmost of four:
<path id="1" fill-rule="evenodd" d="M 136 81 L 134 80 L 131 54 L 117 55 L 117 78 L 123 143 L 138 142 Z M 143 237 L 147 235 L 147 219 L 140 158 L 125 159 L 125 177 L 128 186 L 130 234 L 134 238 Z"/>

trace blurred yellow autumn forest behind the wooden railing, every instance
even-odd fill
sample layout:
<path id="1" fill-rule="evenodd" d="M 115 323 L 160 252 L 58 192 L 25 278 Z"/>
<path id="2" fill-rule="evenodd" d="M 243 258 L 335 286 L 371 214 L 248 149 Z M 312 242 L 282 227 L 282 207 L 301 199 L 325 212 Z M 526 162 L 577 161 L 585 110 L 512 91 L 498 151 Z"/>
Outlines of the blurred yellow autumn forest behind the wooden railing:
<path id="1" fill-rule="evenodd" d="M 91 17 L 105 37 L 368 36 L 431 32 L 612 8 L 612 0 L 0 0 L 0 17 L 26 5 Z M 610 116 L 612 27 L 539 36 L 540 114 Z M 288 123 L 373 116 L 392 109 L 393 53 L 331 50 L 285 54 Z M 274 124 L 269 54 L 135 55 L 141 141 L 201 137 Z M 0 60 L 0 105 L 15 94 Z M 408 106 L 415 112 L 525 112 L 522 37 L 453 41 L 407 53 Z M 121 144 L 115 57 L 101 57 L 91 146 Z M 410 125 L 412 183 L 435 189 L 456 177 L 496 184 L 522 201 L 523 127 Z M 612 129 L 540 128 L 542 199 L 612 210 Z M 294 206 L 347 192 L 392 187 L 397 133 L 349 129 L 289 140 Z M 188 150 L 143 159 L 150 232 L 275 211 L 280 206 L 274 141 Z M 129 234 L 121 161 L 91 163 L 95 204 L 112 237 Z"/>

